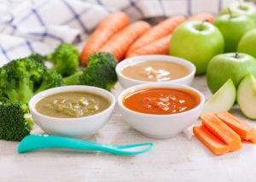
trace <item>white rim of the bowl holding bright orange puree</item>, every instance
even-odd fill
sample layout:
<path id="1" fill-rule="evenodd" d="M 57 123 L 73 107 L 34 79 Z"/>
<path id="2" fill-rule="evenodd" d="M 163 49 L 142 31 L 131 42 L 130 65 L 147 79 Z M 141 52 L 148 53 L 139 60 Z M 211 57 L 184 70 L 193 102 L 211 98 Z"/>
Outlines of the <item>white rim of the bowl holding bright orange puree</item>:
<path id="1" fill-rule="evenodd" d="M 123 100 L 125 95 L 131 94 L 133 92 L 136 92 L 137 90 L 144 89 L 144 88 L 185 88 L 188 89 L 189 91 L 194 92 L 195 94 L 199 95 L 200 97 L 200 103 L 196 105 L 194 108 L 190 109 L 189 111 L 183 111 L 175 114 L 163 114 L 163 115 L 157 115 L 157 114 L 148 114 L 148 113 L 143 113 L 143 112 L 138 112 L 138 111 L 133 111 L 123 104 Z M 132 91 L 131 91 L 132 90 Z M 164 83 L 164 82 L 155 82 L 155 83 L 146 83 L 146 84 L 141 84 L 141 85 L 135 85 L 131 88 L 126 88 L 119 94 L 118 97 L 118 104 L 121 106 L 125 111 L 130 111 L 132 113 L 140 114 L 143 116 L 149 116 L 149 117 L 177 117 L 177 116 L 182 116 L 184 114 L 187 114 L 189 112 L 195 111 L 198 107 L 201 107 L 205 103 L 205 96 L 201 94 L 201 92 L 195 88 L 192 88 L 188 85 L 183 85 L 183 84 L 177 84 L 177 83 Z"/>

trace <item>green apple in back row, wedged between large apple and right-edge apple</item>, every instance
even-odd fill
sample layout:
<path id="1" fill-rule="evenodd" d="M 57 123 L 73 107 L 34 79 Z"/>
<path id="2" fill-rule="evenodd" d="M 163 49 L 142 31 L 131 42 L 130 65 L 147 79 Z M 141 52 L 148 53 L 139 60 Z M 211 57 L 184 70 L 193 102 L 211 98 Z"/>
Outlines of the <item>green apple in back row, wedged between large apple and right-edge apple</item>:
<path id="1" fill-rule="evenodd" d="M 241 37 L 245 35 L 247 31 L 255 28 L 254 21 L 247 18 L 247 16 L 230 17 L 230 14 L 218 16 L 214 21 L 214 25 L 218 27 L 218 30 L 224 37 L 225 53 L 236 52 Z"/>

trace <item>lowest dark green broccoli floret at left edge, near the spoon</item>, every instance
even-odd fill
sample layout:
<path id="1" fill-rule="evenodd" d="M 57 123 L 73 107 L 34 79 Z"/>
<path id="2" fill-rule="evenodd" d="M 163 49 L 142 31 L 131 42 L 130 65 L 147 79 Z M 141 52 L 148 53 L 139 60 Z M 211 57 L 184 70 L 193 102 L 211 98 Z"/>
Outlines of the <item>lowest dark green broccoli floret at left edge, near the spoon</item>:
<path id="1" fill-rule="evenodd" d="M 30 134 L 33 124 L 26 104 L 0 102 L 0 139 L 19 141 Z"/>

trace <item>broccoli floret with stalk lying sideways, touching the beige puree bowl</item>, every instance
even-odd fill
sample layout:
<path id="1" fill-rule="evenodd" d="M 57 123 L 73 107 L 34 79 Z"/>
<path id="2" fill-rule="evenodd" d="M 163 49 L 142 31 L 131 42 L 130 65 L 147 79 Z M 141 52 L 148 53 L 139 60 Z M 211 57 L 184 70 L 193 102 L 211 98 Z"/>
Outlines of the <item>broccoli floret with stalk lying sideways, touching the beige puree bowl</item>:
<path id="1" fill-rule="evenodd" d="M 91 54 L 90 65 L 82 71 L 77 71 L 74 75 L 66 77 L 64 82 L 67 85 L 90 85 L 111 90 L 117 82 L 115 66 L 117 60 L 113 54 L 99 53 Z"/>

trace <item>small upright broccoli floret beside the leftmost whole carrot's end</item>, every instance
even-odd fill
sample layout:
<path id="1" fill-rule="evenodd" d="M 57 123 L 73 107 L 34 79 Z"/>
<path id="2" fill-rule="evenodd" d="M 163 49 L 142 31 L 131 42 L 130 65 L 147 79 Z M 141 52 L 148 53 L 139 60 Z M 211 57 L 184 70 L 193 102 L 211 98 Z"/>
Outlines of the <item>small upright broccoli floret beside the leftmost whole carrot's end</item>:
<path id="1" fill-rule="evenodd" d="M 70 43 L 61 43 L 47 56 L 47 60 L 54 64 L 52 69 L 68 77 L 79 68 L 79 50 Z"/>

